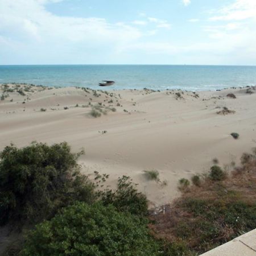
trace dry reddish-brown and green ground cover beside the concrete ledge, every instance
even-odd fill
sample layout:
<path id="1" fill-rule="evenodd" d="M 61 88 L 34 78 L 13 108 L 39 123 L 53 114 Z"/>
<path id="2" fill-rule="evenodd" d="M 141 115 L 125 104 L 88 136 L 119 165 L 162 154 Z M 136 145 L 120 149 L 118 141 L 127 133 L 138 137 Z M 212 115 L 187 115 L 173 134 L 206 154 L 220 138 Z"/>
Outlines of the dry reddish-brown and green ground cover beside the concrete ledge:
<path id="1" fill-rule="evenodd" d="M 183 191 L 171 212 L 151 217 L 155 236 L 181 242 L 197 255 L 254 229 L 256 154 L 248 155 L 229 176 L 220 167 L 212 167 L 200 186 Z"/>

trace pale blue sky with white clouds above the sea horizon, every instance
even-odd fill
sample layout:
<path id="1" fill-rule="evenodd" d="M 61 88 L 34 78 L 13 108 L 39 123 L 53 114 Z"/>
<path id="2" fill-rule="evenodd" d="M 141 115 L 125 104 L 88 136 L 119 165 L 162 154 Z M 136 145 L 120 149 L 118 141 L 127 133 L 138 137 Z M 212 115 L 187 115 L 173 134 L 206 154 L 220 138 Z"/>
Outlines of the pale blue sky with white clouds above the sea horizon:
<path id="1" fill-rule="evenodd" d="M 256 0 L 0 0 L 0 65 L 256 65 Z"/>

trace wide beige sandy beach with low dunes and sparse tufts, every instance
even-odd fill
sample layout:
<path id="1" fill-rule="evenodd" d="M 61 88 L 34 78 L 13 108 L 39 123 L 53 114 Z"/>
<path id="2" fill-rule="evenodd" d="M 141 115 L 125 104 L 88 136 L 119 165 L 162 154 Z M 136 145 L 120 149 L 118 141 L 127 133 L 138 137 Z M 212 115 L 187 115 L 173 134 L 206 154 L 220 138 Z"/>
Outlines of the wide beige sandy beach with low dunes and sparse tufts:
<path id="1" fill-rule="evenodd" d="M 179 179 L 207 172 L 214 158 L 229 171 L 256 147 L 255 92 L 1 85 L 0 150 L 10 143 L 67 141 L 73 152 L 84 148 L 83 172 L 109 174 L 109 185 L 128 175 L 154 207 L 175 199 Z M 101 116 L 93 117 L 92 109 Z M 144 170 L 157 170 L 160 181 L 149 180 Z"/>

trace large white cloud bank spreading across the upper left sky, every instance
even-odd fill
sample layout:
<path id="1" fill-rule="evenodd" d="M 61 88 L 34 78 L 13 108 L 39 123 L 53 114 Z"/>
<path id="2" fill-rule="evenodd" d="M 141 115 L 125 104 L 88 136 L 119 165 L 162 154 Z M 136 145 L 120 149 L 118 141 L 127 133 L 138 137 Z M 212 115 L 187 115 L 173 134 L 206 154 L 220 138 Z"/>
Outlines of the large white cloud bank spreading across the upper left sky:
<path id="1" fill-rule="evenodd" d="M 57 16 L 45 9 L 46 3 L 60 0 L 1 0 L 0 32 L 11 39 L 26 42 L 37 40 L 63 42 L 122 43 L 138 39 L 141 32 L 123 23 L 109 23 L 102 18 Z"/>

